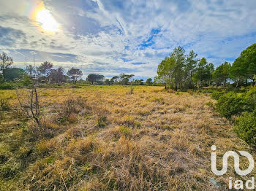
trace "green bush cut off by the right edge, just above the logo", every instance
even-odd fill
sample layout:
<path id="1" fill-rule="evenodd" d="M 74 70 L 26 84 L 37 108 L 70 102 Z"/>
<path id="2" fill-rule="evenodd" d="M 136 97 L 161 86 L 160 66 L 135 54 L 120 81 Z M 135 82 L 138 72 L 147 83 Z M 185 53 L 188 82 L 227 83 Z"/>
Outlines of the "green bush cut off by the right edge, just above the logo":
<path id="1" fill-rule="evenodd" d="M 256 112 L 255 112 L 256 113 Z M 256 148 L 256 117 L 255 114 L 246 112 L 235 122 L 235 131 L 247 144 Z"/>

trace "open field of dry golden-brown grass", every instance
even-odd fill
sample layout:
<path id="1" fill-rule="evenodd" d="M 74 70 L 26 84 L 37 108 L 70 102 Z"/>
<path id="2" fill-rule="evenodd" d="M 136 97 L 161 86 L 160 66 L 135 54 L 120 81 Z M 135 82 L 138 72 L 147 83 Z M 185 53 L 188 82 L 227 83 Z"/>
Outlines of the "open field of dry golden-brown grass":
<path id="1" fill-rule="evenodd" d="M 255 152 L 214 112 L 210 95 L 133 88 L 38 89 L 41 128 L 21 112 L 15 90 L 0 90 L 10 104 L 0 126 L 0 190 L 228 190 L 229 176 L 244 179 L 233 160 L 227 174 L 211 172 L 213 144 L 219 168 L 229 150 Z M 240 168 L 247 163 L 241 157 Z"/>

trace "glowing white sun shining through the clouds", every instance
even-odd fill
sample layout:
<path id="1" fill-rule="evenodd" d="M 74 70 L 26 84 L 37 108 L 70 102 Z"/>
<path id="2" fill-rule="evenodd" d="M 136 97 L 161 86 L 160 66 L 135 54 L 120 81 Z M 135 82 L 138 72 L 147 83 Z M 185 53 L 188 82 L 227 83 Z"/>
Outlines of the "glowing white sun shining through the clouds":
<path id="1" fill-rule="evenodd" d="M 36 20 L 45 31 L 59 31 L 59 23 L 56 22 L 48 9 L 42 9 L 37 12 Z"/>

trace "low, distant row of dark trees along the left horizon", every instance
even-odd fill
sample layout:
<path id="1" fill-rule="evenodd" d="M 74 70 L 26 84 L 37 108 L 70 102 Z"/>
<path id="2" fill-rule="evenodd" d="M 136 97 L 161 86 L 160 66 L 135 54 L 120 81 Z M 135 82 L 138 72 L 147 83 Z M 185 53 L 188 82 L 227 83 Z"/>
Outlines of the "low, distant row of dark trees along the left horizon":
<path id="1" fill-rule="evenodd" d="M 40 66 L 26 66 L 25 69 L 12 68 L 13 59 L 8 56 L 5 52 L 0 54 L 0 82 L 11 82 L 15 79 L 21 79 L 23 77 L 29 77 L 34 81 L 39 83 L 59 83 L 59 82 L 72 82 L 75 84 L 78 79 L 80 82 L 85 82 L 81 77 L 83 72 L 80 69 L 70 68 L 67 72 L 62 66 L 53 69 L 53 63 L 45 61 L 40 64 Z M 114 76 L 111 79 L 106 79 L 104 75 L 101 74 L 89 74 L 86 77 L 86 82 L 92 85 L 99 84 L 102 85 L 144 85 L 143 79 L 133 79 L 134 74 L 120 74 Z M 146 85 L 153 85 L 153 79 L 148 78 L 146 80 Z"/>

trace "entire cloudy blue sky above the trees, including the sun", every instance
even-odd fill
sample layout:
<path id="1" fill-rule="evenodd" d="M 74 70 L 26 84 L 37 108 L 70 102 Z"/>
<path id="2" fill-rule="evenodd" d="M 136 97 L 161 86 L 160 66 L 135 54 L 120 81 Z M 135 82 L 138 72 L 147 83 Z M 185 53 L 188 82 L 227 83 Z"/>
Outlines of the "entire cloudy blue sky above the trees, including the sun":
<path id="1" fill-rule="evenodd" d="M 154 77 L 175 47 L 219 66 L 256 42 L 255 0 L 0 0 L 0 51 L 105 77 Z"/>

